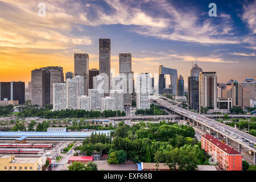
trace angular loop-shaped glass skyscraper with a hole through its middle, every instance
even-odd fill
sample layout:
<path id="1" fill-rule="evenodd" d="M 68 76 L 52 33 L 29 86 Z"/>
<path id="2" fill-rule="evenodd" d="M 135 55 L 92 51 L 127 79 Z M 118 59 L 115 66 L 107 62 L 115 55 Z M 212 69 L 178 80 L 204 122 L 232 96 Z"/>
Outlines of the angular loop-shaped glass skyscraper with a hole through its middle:
<path id="1" fill-rule="evenodd" d="M 171 89 L 166 89 L 165 75 L 170 76 Z M 159 82 L 158 82 L 159 94 L 170 93 L 174 96 L 177 94 L 177 70 L 172 68 L 166 68 L 163 65 L 159 66 Z"/>

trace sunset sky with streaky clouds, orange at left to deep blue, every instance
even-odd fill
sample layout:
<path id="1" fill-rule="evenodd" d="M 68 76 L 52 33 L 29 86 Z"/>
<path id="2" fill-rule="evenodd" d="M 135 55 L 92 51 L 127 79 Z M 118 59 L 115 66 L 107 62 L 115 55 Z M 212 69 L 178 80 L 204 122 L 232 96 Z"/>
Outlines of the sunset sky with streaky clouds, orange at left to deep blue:
<path id="1" fill-rule="evenodd" d="M 210 3 L 217 16 L 209 16 Z M 42 16 L 40 3 L 46 5 Z M 111 40 L 111 68 L 132 53 L 134 73 L 177 69 L 187 86 L 193 63 L 218 82 L 256 78 L 256 1 L 0 0 L 0 81 L 31 80 L 35 68 L 74 71 L 74 53 L 99 68 L 98 39 Z"/>

